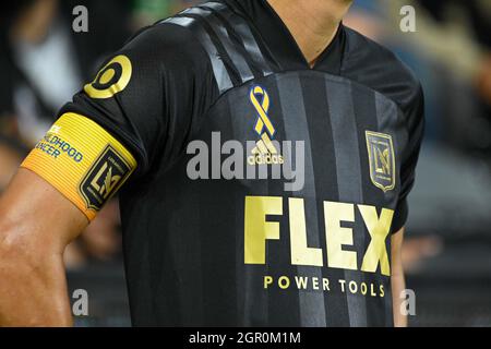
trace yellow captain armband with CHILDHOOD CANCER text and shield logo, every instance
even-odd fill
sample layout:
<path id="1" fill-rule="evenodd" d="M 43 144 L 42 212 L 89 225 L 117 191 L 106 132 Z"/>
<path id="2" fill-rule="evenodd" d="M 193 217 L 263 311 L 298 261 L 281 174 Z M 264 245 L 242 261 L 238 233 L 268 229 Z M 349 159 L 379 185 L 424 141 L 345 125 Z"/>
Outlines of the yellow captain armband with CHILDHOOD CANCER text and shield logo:
<path id="1" fill-rule="evenodd" d="M 96 122 L 64 113 L 21 167 L 39 174 L 93 220 L 136 160 Z"/>

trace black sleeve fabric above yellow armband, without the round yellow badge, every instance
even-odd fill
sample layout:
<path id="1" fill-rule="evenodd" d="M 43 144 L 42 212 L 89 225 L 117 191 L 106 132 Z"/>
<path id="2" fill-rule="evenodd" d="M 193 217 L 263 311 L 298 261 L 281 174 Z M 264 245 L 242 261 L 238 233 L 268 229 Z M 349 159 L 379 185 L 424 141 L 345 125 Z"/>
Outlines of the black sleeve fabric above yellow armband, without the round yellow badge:
<path id="1" fill-rule="evenodd" d="M 129 86 L 108 99 L 81 92 L 60 115 L 86 115 L 115 133 L 137 157 L 139 173 L 157 156 L 170 166 L 189 141 L 193 119 L 216 95 L 207 58 L 189 31 L 168 24 L 145 29 L 117 55 L 132 61 Z"/>

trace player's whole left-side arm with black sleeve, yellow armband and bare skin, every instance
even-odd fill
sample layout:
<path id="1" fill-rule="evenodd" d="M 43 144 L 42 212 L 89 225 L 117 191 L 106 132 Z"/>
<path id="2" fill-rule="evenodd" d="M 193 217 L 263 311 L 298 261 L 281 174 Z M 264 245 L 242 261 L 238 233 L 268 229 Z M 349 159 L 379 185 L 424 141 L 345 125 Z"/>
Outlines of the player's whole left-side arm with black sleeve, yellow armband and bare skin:
<path id="1" fill-rule="evenodd" d="M 180 156 L 218 94 L 206 58 L 187 28 L 153 26 L 62 108 L 0 198 L 0 326 L 71 324 L 65 245 L 130 177 Z"/>

